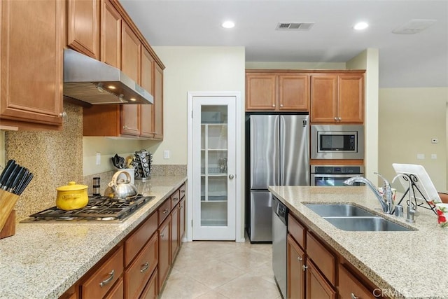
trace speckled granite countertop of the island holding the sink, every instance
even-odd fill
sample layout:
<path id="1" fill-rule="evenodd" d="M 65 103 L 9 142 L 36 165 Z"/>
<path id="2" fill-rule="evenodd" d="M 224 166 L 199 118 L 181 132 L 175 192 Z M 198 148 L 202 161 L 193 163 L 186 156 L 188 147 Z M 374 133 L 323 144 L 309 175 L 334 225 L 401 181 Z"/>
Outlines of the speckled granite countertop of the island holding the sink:
<path id="1" fill-rule="evenodd" d="M 365 274 L 391 298 L 448 298 L 448 229 L 419 207 L 416 221 L 385 215 L 372 190 L 363 187 L 269 186 L 290 211 Z M 401 194 L 397 193 L 397 200 Z M 350 232 L 339 230 L 304 203 L 352 203 L 416 230 Z M 402 205 L 405 206 L 405 200 Z M 406 211 L 405 211 L 406 214 Z"/>

